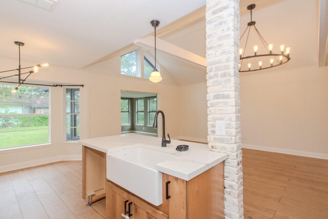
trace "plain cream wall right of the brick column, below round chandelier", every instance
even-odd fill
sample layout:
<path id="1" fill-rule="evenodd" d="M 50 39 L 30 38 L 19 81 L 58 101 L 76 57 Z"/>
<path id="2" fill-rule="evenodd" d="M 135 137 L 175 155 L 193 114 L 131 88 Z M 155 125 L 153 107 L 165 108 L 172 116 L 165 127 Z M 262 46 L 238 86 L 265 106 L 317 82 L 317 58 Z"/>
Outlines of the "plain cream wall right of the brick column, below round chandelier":
<path id="1" fill-rule="evenodd" d="M 328 67 L 242 74 L 243 147 L 328 158 Z"/>

